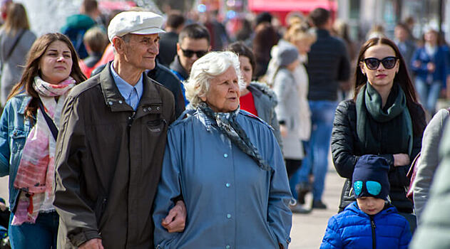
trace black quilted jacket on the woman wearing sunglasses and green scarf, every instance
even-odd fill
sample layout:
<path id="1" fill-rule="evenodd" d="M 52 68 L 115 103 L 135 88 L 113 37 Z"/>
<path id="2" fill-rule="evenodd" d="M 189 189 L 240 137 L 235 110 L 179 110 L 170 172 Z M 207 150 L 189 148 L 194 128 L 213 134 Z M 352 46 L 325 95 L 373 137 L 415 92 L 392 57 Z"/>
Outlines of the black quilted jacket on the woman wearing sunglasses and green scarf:
<path id="1" fill-rule="evenodd" d="M 419 117 L 414 117 L 411 114 L 411 118 L 414 119 L 422 119 L 425 120 L 425 113 L 422 110 L 420 105 L 414 105 L 417 108 L 416 112 L 410 113 L 419 113 Z M 388 144 L 394 139 L 401 139 L 399 137 L 387 137 L 383 132 L 386 129 L 389 129 L 389 122 L 380 123 L 372 120 L 369 117 L 370 122 L 374 122 L 377 129 L 380 130 L 378 132 L 379 136 L 376 137 L 379 142 L 382 144 Z M 331 138 L 331 149 L 332 149 L 332 157 L 334 162 L 334 167 L 337 170 L 337 173 L 346 178 L 344 187 L 342 189 L 341 202 L 339 204 L 339 212 L 344 210 L 345 206 L 355 200 L 354 195 L 352 194 L 352 174 L 354 169 L 354 164 L 358 161 L 359 157 L 364 154 L 369 154 L 367 152 L 362 151 L 363 148 L 357 146 L 359 144 L 357 137 L 357 110 L 356 105 L 353 100 L 345 100 L 340 102 L 336 113 L 334 116 L 333 130 L 332 130 L 332 138 Z M 416 157 L 416 154 L 420 152 L 421 149 L 421 140 L 424 132 L 424 128 L 420 129 L 419 134 L 413 134 L 413 148 L 411 152 L 411 161 Z M 389 192 L 389 198 L 392 204 L 399 210 L 399 212 L 411 213 L 413 205 L 408 198 L 406 198 L 406 188 L 409 186 L 409 179 L 406 177 L 406 173 L 409 170 L 411 165 L 406 166 L 395 166 L 394 167 L 394 157 L 392 154 L 397 154 L 400 152 L 387 152 L 384 147 L 381 147 L 378 154 L 380 157 L 384 157 L 387 159 L 390 170 L 389 170 L 389 184 L 391 185 L 391 191 Z M 406 153 L 407 152 L 401 152 Z M 370 153 L 374 154 L 374 152 Z"/>

